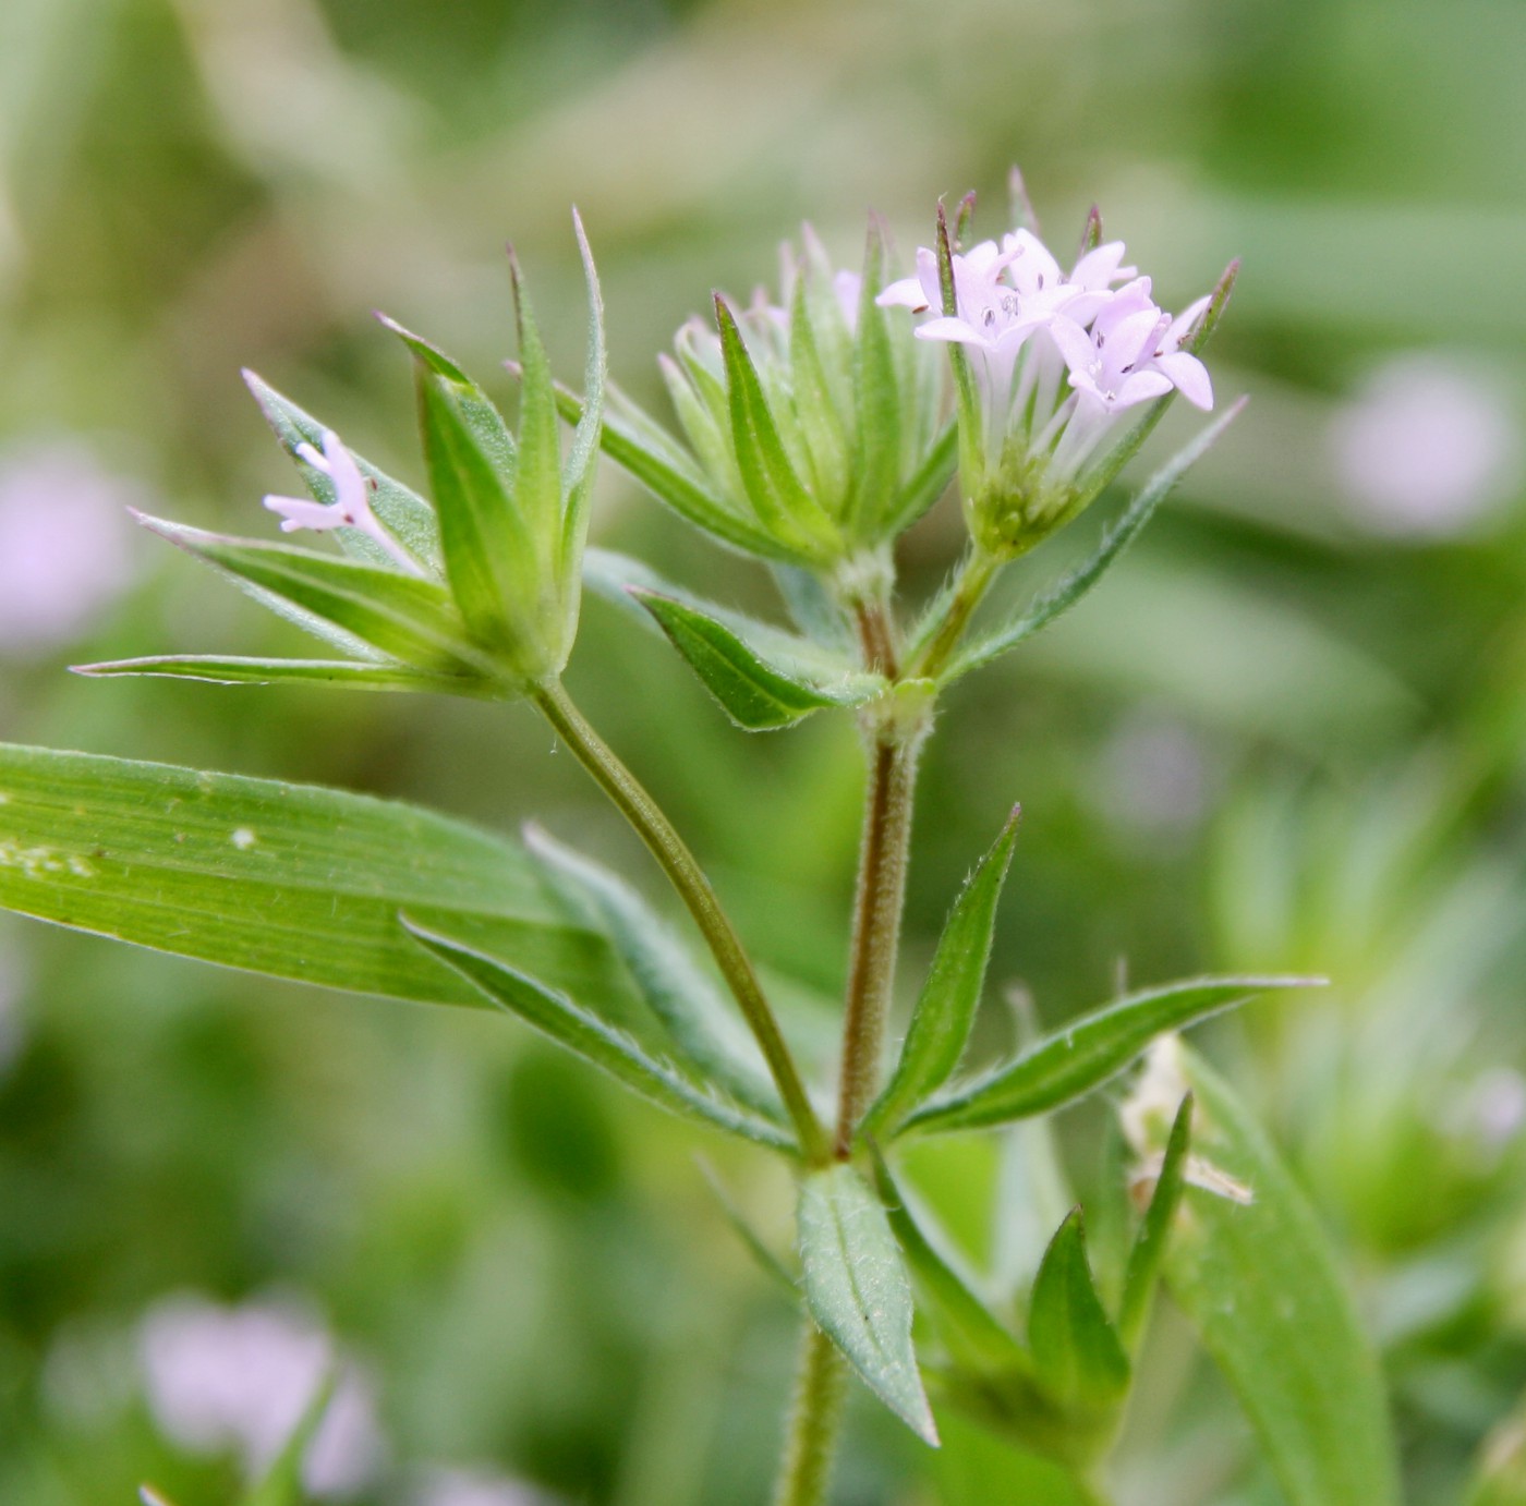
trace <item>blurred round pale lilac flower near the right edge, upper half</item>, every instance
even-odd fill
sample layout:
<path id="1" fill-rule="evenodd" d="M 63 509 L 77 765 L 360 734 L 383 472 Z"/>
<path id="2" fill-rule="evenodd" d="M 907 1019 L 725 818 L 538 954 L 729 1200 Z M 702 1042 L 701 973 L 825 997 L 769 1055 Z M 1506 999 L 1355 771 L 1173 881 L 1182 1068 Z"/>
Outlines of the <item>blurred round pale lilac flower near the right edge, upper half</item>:
<path id="1" fill-rule="evenodd" d="M 1523 478 L 1515 394 L 1451 356 L 1399 356 L 1335 415 L 1335 478 L 1376 533 L 1445 537 L 1488 519 Z"/>

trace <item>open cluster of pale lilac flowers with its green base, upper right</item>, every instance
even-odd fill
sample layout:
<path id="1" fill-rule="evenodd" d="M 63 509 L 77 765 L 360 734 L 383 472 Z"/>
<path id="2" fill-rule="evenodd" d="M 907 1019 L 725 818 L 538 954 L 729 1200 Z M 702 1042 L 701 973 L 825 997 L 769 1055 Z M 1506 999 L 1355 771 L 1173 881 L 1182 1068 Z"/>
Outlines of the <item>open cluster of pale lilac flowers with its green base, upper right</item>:
<path id="1" fill-rule="evenodd" d="M 1172 317 L 1123 255 L 1122 241 L 1093 244 L 1067 273 L 1032 230 L 1018 229 L 1000 244 L 945 247 L 942 265 L 923 247 L 917 275 L 877 298 L 932 313 L 917 336 L 963 352 L 966 505 L 993 554 L 1032 548 L 1100 490 L 1105 465 L 1088 462 L 1131 409 L 1173 391 L 1213 406 L 1207 369 L 1186 348 L 1212 294 Z"/>

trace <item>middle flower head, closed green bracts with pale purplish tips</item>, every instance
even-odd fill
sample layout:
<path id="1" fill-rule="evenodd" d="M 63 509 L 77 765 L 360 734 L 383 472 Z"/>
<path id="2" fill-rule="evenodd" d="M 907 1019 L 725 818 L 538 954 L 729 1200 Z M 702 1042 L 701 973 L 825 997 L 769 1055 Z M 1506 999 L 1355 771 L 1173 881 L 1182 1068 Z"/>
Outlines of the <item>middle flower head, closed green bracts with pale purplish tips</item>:
<path id="1" fill-rule="evenodd" d="M 940 362 L 879 307 L 885 281 L 877 226 L 862 273 L 835 270 L 807 229 L 778 304 L 717 294 L 714 328 L 690 320 L 659 357 L 684 442 L 617 400 L 604 447 L 736 548 L 824 572 L 873 552 L 938 499 L 955 458 Z"/>

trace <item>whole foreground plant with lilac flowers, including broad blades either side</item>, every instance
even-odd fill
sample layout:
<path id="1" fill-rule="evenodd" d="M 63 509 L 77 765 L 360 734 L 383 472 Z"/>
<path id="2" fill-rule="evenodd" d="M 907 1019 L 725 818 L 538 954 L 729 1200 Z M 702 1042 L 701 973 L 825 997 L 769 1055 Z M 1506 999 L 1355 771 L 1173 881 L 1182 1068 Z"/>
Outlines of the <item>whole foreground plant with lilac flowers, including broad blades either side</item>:
<path id="1" fill-rule="evenodd" d="M 1235 269 L 1170 316 L 1096 215 L 1067 273 L 1025 211 L 1000 243 L 963 247 L 969 211 L 966 200 L 951 227 L 940 209 L 916 276 L 894 275 L 877 226 L 862 270 L 833 267 L 807 232 L 786 253 L 777 304 L 717 296 L 714 330 L 685 325 L 661 357 L 681 436 L 606 381 L 580 223 L 581 392 L 554 381 L 516 265 L 517 430 L 455 360 L 385 320 L 414 360 L 430 500 L 250 377 L 313 493 L 266 505 L 282 531 L 333 533 L 342 552 L 145 522 L 343 658 L 171 655 L 84 670 L 526 700 L 645 842 L 708 963 L 627 877 L 540 830 L 511 842 L 336 790 L 41 749 L 0 754 L 0 903 L 273 977 L 496 1006 L 650 1103 L 783 1158 L 794 1250 L 743 1224 L 803 1317 L 780 1506 L 827 1498 L 850 1373 L 928 1445 L 935 1410 L 963 1414 L 1045 1460 L 1053 1498 L 1106 1500 L 1163 1274 L 1289 1495 L 1384 1506 L 1392 1439 L 1334 1262 L 1251 1115 L 1175 1036 L 1251 995 L 1320 980 L 1190 978 L 1029 1030 L 1004 1054 L 977 1048 L 1018 839 L 1007 807 L 897 1025 L 917 771 L 942 693 L 1096 586 L 1238 412 L 1144 482 L 1050 589 L 996 609 L 1007 563 L 1094 502 L 1178 392 L 1212 409 L 1201 351 Z M 574 426 L 565 453 L 559 412 Z M 766 562 L 792 626 L 586 548 L 600 450 Z M 955 473 L 964 557 L 908 612 L 894 543 Z M 740 728 L 858 720 L 865 818 L 835 1092 L 833 1064 L 790 1039 L 710 876 L 563 685 L 584 584 L 665 635 Z M 1128 1237 L 1099 1257 L 1082 1210 L 1062 1204 L 1004 1285 L 958 1269 L 903 1144 L 1041 1125 L 1146 1053 L 1120 1102 L 1134 1155 Z M 1047 1157 L 1041 1140 L 1025 1144 Z M 1064 1184 L 1051 1160 L 1042 1176 Z M 1047 1202 L 1032 1212 L 1050 1218 Z M 1309 1344 L 1277 1343 L 1289 1321 Z"/>

